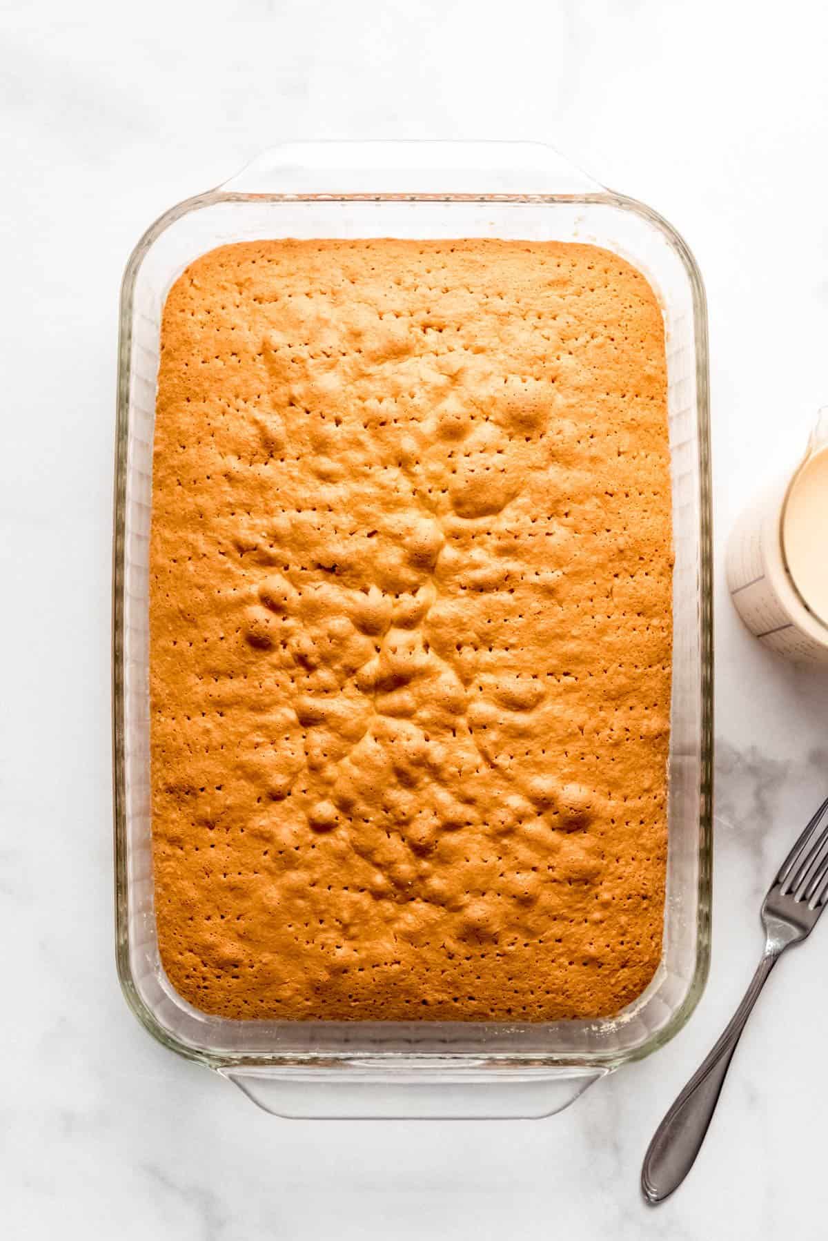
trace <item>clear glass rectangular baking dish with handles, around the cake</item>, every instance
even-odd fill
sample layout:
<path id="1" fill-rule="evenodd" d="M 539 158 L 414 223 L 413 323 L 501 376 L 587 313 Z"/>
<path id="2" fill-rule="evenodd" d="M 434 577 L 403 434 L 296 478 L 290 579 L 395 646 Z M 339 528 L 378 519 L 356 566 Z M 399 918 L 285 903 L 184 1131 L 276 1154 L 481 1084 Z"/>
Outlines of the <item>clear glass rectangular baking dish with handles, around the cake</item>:
<path id="1" fill-rule="evenodd" d="M 216 246 L 267 237 L 502 237 L 593 242 L 638 267 L 667 334 L 675 542 L 664 947 L 611 1020 L 552 1024 L 231 1021 L 171 988 L 153 912 L 148 536 L 161 308 Z M 173 207 L 139 241 L 120 302 L 114 496 L 113 712 L 117 958 L 129 1005 L 165 1046 L 282 1116 L 545 1116 L 668 1041 L 704 988 L 710 948 L 713 645 L 705 298 L 655 212 L 550 148 L 309 143 L 267 151 Z"/>

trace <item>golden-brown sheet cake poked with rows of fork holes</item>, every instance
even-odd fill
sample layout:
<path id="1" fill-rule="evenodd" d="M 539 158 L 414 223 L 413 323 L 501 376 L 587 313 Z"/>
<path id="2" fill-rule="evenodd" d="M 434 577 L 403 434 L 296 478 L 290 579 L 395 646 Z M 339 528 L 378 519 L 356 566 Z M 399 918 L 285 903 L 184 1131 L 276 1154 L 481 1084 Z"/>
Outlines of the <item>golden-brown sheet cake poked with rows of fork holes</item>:
<path id="1" fill-rule="evenodd" d="M 660 957 L 664 331 L 592 246 L 269 241 L 164 309 L 155 907 L 228 1018 L 616 1013 Z"/>

